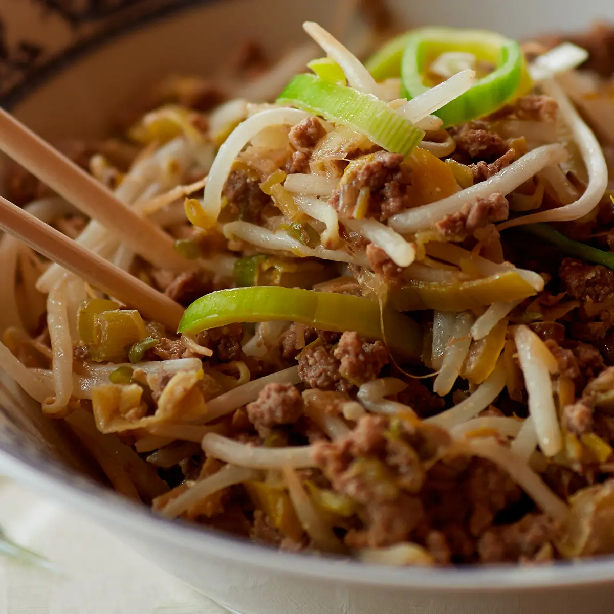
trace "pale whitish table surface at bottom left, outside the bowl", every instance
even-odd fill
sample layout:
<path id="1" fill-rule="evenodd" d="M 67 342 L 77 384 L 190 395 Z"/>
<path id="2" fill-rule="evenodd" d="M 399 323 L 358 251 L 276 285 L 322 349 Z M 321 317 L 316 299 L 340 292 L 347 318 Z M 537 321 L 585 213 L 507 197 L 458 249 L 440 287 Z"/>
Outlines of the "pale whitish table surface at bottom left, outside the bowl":
<path id="1" fill-rule="evenodd" d="M 2 614 L 226 614 L 97 524 L 7 480 L 0 527 L 58 568 L 0 557 Z"/>

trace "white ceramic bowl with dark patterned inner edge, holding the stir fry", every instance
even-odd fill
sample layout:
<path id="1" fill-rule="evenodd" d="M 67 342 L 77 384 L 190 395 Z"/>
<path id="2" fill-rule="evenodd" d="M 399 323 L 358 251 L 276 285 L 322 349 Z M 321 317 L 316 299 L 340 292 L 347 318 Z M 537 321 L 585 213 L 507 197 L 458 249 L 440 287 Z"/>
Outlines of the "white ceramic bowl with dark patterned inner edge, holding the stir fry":
<path id="1" fill-rule="evenodd" d="M 394 4 L 408 23 L 482 26 L 512 36 L 614 19 L 608 0 Z M 122 104 L 165 73 L 206 72 L 246 37 L 282 50 L 305 38 L 301 21 L 326 26 L 335 6 L 335 0 L 0 0 L 0 101 L 47 137 L 103 133 Z M 613 610 L 614 558 L 532 568 L 389 569 L 277 553 L 171 523 L 84 477 L 87 461 L 63 425 L 42 418 L 15 387 L 0 393 L 1 473 L 93 516 L 163 569 L 243 614 Z"/>

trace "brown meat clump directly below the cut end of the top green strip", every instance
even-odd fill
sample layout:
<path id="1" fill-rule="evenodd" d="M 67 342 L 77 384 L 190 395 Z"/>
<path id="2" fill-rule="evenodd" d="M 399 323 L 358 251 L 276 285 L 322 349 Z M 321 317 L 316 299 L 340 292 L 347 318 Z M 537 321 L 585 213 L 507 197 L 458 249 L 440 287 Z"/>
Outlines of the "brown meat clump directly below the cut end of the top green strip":
<path id="1" fill-rule="evenodd" d="M 362 166 L 352 171 L 349 181 L 336 188 L 328 203 L 342 218 L 350 218 L 362 188 L 370 190 L 369 212 L 384 222 L 410 206 L 405 186 L 410 172 L 403 168 L 399 153 L 378 151 L 365 156 Z"/>

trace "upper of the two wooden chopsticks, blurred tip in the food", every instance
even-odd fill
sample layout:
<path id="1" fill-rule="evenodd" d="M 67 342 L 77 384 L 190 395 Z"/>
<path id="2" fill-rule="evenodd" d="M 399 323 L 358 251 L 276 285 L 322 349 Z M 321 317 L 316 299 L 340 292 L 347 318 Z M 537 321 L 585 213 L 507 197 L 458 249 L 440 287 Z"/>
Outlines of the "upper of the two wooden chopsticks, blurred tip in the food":
<path id="1" fill-rule="evenodd" d="M 0 150 L 49 185 L 88 217 L 117 233 L 137 254 L 173 271 L 191 268 L 173 239 L 107 190 L 103 184 L 0 108 Z"/>

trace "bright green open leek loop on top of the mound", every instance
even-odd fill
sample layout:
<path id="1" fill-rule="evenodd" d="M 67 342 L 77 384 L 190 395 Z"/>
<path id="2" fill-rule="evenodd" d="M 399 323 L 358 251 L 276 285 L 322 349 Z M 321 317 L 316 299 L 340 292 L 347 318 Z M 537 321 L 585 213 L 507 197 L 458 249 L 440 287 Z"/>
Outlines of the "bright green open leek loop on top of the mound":
<path id="1" fill-rule="evenodd" d="M 416 98 L 429 86 L 424 84 L 429 64 L 446 52 L 473 53 L 496 68 L 478 79 L 473 87 L 435 111 L 444 125 L 467 122 L 495 111 L 512 98 L 521 84 L 523 55 L 516 41 L 499 34 L 453 28 L 421 28 L 405 39 L 402 84 L 406 98 Z"/>

